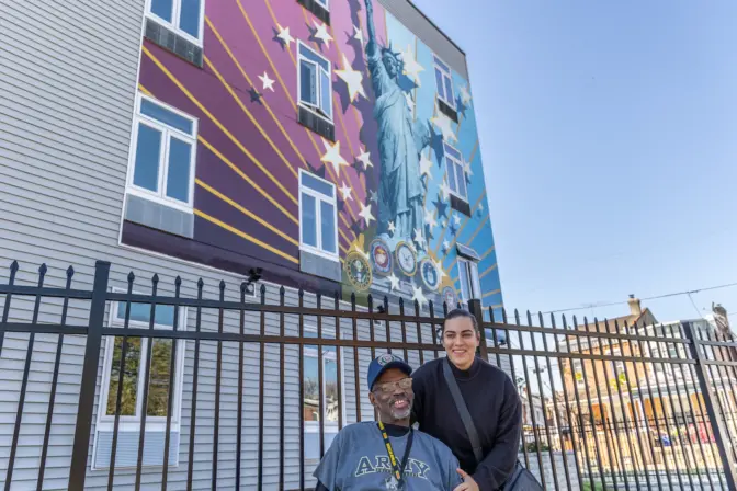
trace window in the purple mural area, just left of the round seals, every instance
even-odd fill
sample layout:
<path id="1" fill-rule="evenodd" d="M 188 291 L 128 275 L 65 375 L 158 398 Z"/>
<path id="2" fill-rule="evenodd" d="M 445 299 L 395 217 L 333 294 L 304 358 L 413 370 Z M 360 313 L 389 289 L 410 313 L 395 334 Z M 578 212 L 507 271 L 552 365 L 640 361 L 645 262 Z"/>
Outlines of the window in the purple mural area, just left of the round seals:
<path id="1" fill-rule="evenodd" d="M 338 261 L 336 186 L 299 171 L 299 239 L 304 250 Z"/>

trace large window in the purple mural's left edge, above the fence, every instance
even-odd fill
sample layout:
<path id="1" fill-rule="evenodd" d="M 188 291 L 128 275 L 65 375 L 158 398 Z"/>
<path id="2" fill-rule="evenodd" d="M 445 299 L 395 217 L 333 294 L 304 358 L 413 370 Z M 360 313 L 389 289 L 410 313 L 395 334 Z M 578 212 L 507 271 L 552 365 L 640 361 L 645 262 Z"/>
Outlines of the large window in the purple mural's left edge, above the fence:
<path id="1" fill-rule="evenodd" d="M 128 192 L 192 210 L 197 121 L 140 95 Z"/>

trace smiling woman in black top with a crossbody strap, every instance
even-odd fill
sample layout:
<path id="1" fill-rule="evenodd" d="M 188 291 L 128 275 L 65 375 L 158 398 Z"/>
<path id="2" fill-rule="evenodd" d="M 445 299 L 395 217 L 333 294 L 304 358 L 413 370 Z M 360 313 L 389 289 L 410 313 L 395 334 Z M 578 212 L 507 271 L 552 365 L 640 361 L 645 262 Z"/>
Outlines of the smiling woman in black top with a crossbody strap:
<path id="1" fill-rule="evenodd" d="M 480 333 L 476 318 L 467 310 L 451 311 L 441 335 L 447 356 L 427 363 L 412 377 L 415 421 L 458 458 L 464 483 L 455 491 L 498 490 L 517 463 L 522 430 L 520 397 L 504 372 L 476 356 Z M 476 427 L 480 461 L 445 380 L 445 364 Z"/>

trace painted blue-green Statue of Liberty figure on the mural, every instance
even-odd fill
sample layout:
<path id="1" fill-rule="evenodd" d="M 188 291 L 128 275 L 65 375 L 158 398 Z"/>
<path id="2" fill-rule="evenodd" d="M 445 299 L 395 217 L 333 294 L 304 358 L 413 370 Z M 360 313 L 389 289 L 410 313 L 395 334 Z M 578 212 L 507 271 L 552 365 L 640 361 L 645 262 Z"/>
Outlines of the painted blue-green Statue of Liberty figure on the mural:
<path id="1" fill-rule="evenodd" d="M 379 47 L 374 26 L 372 0 L 366 2 L 368 43 L 366 56 L 376 95 L 374 118 L 378 124 L 382 172 L 378 185 L 378 233 L 390 243 L 411 243 L 415 229 L 424 235 L 423 185 L 420 152 L 430 142 L 427 122 L 416 122 L 399 87 L 402 62 L 390 46 Z M 394 233 L 390 225 L 394 225 Z"/>

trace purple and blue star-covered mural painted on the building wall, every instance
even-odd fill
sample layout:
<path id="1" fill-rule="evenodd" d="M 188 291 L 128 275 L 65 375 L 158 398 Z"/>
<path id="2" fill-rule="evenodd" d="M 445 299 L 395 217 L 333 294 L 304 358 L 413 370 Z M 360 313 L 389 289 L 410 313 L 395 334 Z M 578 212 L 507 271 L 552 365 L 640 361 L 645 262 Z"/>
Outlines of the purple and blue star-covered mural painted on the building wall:
<path id="1" fill-rule="evenodd" d="M 193 235 L 125 220 L 124 243 L 329 290 L 301 260 L 313 240 L 330 251 L 335 203 L 344 292 L 454 302 L 466 246 L 484 304 L 501 304 L 467 80 L 372 0 L 330 2 L 330 25 L 294 0 L 207 1 L 203 30 L 202 68 L 146 38 L 139 76 L 143 96 L 197 119 Z M 335 197 L 305 194 L 304 174 Z"/>

